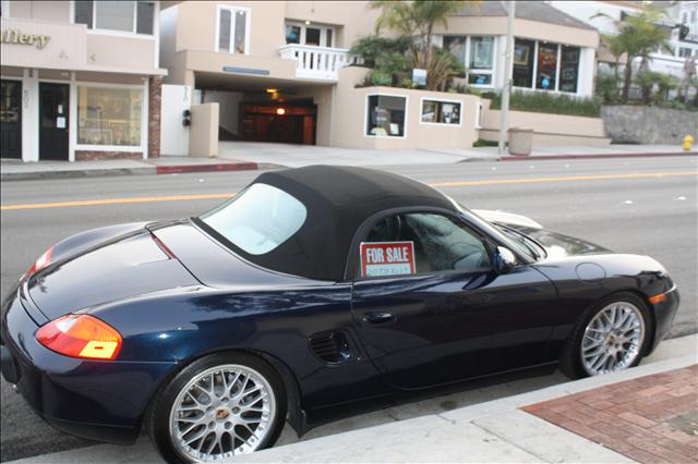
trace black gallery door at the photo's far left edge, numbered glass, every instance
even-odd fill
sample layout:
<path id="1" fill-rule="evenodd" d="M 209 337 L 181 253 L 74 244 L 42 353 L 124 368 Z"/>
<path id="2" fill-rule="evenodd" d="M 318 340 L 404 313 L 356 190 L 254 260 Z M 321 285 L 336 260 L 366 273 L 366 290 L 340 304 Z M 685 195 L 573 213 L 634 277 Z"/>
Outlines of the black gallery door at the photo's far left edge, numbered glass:
<path id="1" fill-rule="evenodd" d="M 22 83 L 2 81 L 0 88 L 0 157 L 22 158 Z"/>

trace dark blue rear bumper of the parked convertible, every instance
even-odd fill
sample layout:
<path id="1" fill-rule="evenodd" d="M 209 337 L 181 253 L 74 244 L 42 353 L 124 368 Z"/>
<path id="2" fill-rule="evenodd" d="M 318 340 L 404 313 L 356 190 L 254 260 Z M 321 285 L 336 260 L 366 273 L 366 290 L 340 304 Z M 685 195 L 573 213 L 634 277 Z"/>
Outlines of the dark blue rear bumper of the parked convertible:
<path id="1" fill-rule="evenodd" d="M 3 304 L 0 323 L 5 380 L 61 431 L 97 441 L 133 443 L 151 399 L 176 364 L 62 356 L 36 341 L 37 329 L 15 291 Z"/>

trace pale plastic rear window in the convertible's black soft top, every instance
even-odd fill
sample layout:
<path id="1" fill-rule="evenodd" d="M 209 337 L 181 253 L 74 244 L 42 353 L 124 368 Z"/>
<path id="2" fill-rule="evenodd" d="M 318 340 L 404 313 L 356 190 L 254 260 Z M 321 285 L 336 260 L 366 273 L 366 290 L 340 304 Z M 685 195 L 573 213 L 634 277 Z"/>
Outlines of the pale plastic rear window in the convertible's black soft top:
<path id="1" fill-rule="evenodd" d="M 200 219 L 250 255 L 263 255 L 286 242 L 305 222 L 305 206 L 286 192 L 253 184 Z"/>

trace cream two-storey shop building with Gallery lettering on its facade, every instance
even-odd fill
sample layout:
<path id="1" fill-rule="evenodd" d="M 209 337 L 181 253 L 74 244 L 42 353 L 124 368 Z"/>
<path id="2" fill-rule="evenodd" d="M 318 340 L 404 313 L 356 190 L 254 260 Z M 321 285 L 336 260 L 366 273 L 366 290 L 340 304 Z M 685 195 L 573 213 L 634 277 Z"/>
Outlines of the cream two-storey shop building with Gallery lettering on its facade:
<path id="1" fill-rule="evenodd" d="M 1 2 L 2 158 L 159 155 L 159 2 Z"/>

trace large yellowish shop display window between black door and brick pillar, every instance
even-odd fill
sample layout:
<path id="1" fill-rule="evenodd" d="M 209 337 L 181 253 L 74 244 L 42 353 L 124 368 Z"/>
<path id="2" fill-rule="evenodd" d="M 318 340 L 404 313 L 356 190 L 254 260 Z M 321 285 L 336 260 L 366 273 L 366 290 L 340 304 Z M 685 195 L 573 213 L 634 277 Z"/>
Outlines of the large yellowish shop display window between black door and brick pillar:
<path id="1" fill-rule="evenodd" d="M 141 146 L 143 90 L 79 87 L 77 144 Z"/>

